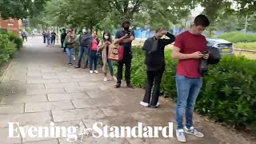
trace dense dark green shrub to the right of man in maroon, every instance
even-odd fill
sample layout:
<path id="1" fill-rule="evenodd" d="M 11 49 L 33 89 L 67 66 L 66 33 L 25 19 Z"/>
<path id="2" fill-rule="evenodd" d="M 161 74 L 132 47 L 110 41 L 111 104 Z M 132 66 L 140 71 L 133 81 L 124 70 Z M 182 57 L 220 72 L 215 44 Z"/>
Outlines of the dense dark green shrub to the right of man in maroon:
<path id="1" fill-rule="evenodd" d="M 234 126 L 253 124 L 256 120 L 255 70 L 256 62 L 244 57 L 223 57 L 217 66 L 210 66 L 198 97 L 198 112 Z"/>

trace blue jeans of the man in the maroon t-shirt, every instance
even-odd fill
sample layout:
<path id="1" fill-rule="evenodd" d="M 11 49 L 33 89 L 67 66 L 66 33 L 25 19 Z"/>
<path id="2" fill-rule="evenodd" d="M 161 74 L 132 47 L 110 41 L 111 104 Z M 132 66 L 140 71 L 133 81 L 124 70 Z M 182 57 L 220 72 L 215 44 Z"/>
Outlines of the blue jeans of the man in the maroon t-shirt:
<path id="1" fill-rule="evenodd" d="M 178 129 L 183 129 L 183 117 L 186 115 L 186 128 L 193 126 L 194 104 L 202 87 L 202 78 L 186 78 L 176 74 L 178 100 L 176 122 Z"/>

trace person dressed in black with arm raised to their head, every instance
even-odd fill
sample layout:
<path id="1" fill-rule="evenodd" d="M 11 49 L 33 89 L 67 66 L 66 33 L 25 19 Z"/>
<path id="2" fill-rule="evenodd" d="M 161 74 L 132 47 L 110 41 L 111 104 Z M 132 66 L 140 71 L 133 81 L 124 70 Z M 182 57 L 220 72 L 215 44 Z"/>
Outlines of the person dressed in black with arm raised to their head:
<path id="1" fill-rule="evenodd" d="M 166 35 L 170 39 L 162 39 L 163 35 Z M 158 107 L 160 104 L 158 102 L 160 94 L 160 84 L 162 80 L 162 74 L 165 70 L 165 47 L 170 43 L 174 42 L 175 37 L 166 31 L 165 27 L 159 27 L 156 30 L 156 34 L 152 38 L 147 38 L 142 50 L 146 51 L 146 92 L 143 101 L 140 102 L 142 106 L 153 106 Z M 152 99 L 151 90 L 154 84 Z"/>

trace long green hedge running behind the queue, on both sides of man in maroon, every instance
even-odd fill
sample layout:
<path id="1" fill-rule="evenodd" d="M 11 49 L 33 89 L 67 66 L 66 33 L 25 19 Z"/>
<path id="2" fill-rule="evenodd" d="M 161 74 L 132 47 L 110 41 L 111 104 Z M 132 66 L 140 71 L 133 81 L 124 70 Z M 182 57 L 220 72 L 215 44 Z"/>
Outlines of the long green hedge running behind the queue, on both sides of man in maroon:
<path id="1" fill-rule="evenodd" d="M 163 74 L 161 93 L 166 98 L 177 99 L 175 73 L 177 61 L 166 51 L 166 71 Z M 133 48 L 131 81 L 145 88 L 146 66 L 141 47 Z M 116 67 L 114 69 L 116 71 Z M 256 130 L 256 62 L 244 57 L 223 56 L 218 65 L 210 66 L 203 78 L 195 110 L 216 122 L 232 126 L 250 126 Z"/>

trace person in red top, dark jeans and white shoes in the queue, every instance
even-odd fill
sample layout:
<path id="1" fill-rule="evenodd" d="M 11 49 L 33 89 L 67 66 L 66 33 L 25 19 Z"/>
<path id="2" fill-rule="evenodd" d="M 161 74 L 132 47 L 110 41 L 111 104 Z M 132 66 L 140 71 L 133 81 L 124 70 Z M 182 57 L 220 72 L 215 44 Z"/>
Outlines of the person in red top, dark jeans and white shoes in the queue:
<path id="1" fill-rule="evenodd" d="M 90 47 L 90 74 L 96 73 L 98 74 L 97 70 L 97 50 L 98 50 L 98 40 L 97 40 L 97 32 L 94 31 L 93 34 L 93 42 Z M 94 67 L 93 67 L 94 65 Z"/>

